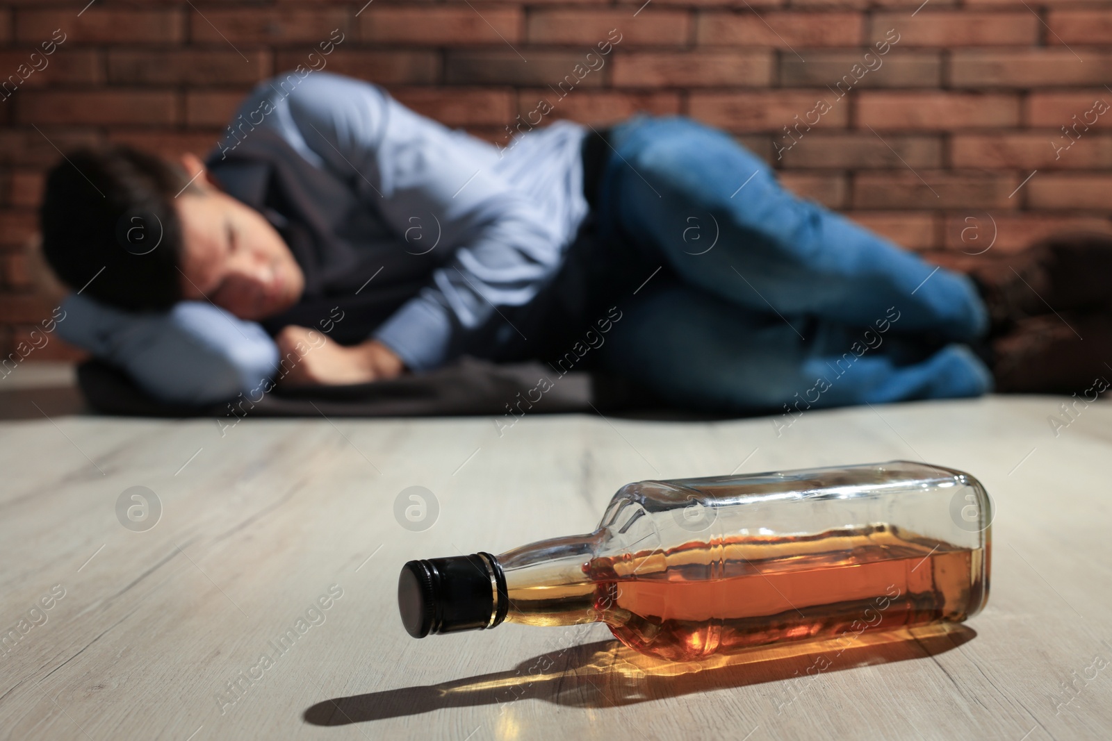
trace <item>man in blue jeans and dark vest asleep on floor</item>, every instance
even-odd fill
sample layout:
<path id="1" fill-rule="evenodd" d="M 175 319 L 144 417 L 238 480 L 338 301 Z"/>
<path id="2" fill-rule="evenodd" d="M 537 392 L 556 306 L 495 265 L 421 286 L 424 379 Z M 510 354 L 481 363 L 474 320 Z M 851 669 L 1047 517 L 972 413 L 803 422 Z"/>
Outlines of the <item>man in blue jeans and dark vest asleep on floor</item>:
<path id="1" fill-rule="evenodd" d="M 1108 337 L 1076 342 L 1104 314 L 1066 310 L 1103 296 L 1064 290 L 1058 252 L 974 283 L 689 119 L 559 121 L 503 149 L 322 72 L 260 84 L 203 164 L 70 153 L 41 218 L 77 290 L 62 336 L 179 403 L 470 354 L 778 411 L 1081 389 Z"/>

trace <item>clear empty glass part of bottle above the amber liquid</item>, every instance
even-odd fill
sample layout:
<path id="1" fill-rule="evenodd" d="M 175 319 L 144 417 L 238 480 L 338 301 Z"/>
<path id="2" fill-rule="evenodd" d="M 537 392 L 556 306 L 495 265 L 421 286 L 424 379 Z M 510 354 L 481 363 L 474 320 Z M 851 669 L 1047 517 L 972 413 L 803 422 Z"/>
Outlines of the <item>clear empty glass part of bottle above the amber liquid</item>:
<path id="1" fill-rule="evenodd" d="M 600 551 L 644 553 L 683 543 L 801 538 L 846 528 L 892 530 L 981 547 L 992 502 L 972 475 L 914 461 L 622 487 L 599 529 Z"/>

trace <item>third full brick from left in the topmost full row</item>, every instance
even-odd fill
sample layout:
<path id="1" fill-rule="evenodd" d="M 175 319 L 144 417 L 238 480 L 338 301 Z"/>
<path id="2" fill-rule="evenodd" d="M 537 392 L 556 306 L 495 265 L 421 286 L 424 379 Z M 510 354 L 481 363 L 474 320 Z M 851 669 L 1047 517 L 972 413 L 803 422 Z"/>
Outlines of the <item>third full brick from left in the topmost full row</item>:
<path id="1" fill-rule="evenodd" d="M 517 43 L 522 11 L 505 6 L 371 6 L 359 16 L 364 41 L 461 47 Z"/>

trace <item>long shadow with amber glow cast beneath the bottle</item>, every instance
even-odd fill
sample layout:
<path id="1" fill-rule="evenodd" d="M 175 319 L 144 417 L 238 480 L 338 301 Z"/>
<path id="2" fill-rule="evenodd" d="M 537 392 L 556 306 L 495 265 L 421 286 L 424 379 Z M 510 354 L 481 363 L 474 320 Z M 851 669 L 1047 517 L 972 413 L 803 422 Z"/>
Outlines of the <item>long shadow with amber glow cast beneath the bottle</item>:
<path id="1" fill-rule="evenodd" d="M 933 657 L 975 637 L 976 632 L 966 625 L 942 623 L 866 632 L 848 641 L 841 638 L 774 644 L 692 662 L 662 661 L 617 641 L 598 641 L 533 657 L 509 671 L 331 698 L 307 709 L 304 719 L 312 725 L 347 725 L 441 708 L 503 707 L 520 699 L 604 709 L 795 680 L 785 685 L 783 697 L 773 701 L 780 708 L 794 702 L 824 673 Z"/>

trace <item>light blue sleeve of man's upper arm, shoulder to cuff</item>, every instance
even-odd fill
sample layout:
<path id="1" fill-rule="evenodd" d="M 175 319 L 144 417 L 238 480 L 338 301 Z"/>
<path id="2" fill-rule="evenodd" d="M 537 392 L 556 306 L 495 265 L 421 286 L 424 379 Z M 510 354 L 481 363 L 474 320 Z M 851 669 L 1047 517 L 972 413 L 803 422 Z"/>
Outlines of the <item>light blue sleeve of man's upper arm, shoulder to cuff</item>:
<path id="1" fill-rule="evenodd" d="M 502 309 L 527 304 L 555 276 L 565 248 L 557 227 L 495 171 L 495 148 L 375 84 L 315 73 L 279 94 L 277 80 L 259 90 L 271 90 L 272 126 L 287 141 L 350 182 L 399 238 L 419 227 L 423 248 L 450 256 L 374 333 L 408 368 L 459 354 L 469 333 L 508 323 Z"/>

